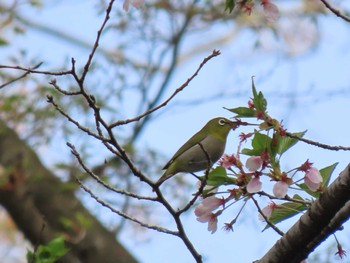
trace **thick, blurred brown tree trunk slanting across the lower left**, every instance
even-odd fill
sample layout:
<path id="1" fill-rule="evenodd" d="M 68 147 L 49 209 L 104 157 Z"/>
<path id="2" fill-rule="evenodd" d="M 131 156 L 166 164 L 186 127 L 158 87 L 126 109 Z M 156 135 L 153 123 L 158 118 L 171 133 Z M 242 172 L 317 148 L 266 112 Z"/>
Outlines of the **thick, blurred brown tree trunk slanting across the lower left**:
<path id="1" fill-rule="evenodd" d="M 74 189 L 46 169 L 35 152 L 1 121 L 0 204 L 34 245 L 63 235 L 71 251 L 60 262 L 137 262 L 86 210 Z"/>

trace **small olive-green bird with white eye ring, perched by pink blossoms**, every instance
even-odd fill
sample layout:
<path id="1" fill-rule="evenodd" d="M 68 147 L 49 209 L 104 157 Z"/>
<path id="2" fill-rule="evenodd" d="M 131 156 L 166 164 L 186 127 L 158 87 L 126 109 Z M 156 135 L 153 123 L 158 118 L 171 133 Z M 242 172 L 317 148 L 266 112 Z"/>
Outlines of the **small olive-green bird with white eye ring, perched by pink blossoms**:
<path id="1" fill-rule="evenodd" d="M 199 132 L 193 135 L 163 167 L 164 174 L 156 182 L 162 184 L 173 175 L 185 172 L 194 173 L 213 165 L 223 155 L 227 136 L 235 122 L 218 117 L 210 120 Z"/>

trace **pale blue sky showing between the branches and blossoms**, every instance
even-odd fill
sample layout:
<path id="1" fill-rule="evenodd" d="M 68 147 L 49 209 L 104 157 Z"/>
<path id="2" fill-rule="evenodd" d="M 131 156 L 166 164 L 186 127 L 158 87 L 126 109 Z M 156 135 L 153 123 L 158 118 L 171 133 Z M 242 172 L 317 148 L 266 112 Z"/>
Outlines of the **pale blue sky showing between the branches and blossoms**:
<path id="1" fill-rule="evenodd" d="M 116 7 L 121 8 L 121 1 L 117 2 Z M 95 10 L 91 6 L 86 8 L 85 1 L 52 3 L 43 12 L 31 9 L 24 11 L 27 17 L 37 22 L 77 34 L 79 38 L 90 43 L 94 40 L 101 22 L 101 18 L 95 18 Z M 222 55 L 210 61 L 190 86 L 170 103 L 170 110 L 165 109 L 159 118 L 154 120 L 138 144 L 152 145 L 170 157 L 207 120 L 216 116 L 230 117 L 230 113 L 223 107 L 245 105 L 251 96 L 251 76 L 254 75 L 257 89 L 262 90 L 268 99 L 270 115 L 284 119 L 288 130 L 308 130 L 306 137 L 309 139 L 331 145 L 349 146 L 349 27 L 335 16 L 322 16 L 319 21 L 321 35 L 317 47 L 299 56 L 287 57 L 284 53 L 285 46 L 278 41 L 272 41 L 274 48 L 267 52 L 251 51 L 252 33 L 249 31 L 240 34 L 234 43 L 217 46 Z M 20 37 L 16 46 L 29 47 L 31 55 L 40 55 L 45 60 L 48 59 L 49 62 L 45 64 L 48 69 L 70 57 L 75 57 L 78 63 L 87 58 L 86 50 L 59 42 L 54 37 L 34 30 L 29 30 L 26 35 Z M 183 64 L 173 78 L 171 86 L 175 89 L 181 85 L 192 75 L 203 57 L 210 53 L 211 50 L 198 54 Z M 218 89 L 226 94 L 240 92 L 242 95 L 227 95 L 220 100 L 194 107 L 181 106 L 183 101 L 210 98 Z M 296 96 L 279 95 L 286 91 Z M 340 91 L 343 93 L 335 94 Z M 237 135 L 231 133 L 227 152 L 235 152 Z M 62 145 L 58 147 L 65 147 L 64 143 Z M 68 149 L 66 151 L 69 152 Z M 319 168 L 339 162 L 335 176 L 349 163 L 348 156 L 346 152 L 330 152 L 299 143 L 295 150 L 285 157 L 285 166 L 293 167 L 306 159 L 310 159 Z M 42 157 L 48 164 L 59 158 Z M 231 212 L 231 215 L 227 214 L 224 217 L 232 218 L 237 208 L 233 208 Z M 240 222 L 231 233 L 221 231 L 219 225 L 219 230 L 213 235 L 210 234 L 206 225 L 198 223 L 192 212 L 186 215 L 184 221 L 190 238 L 204 256 L 206 263 L 233 262 L 232 260 L 252 262 L 261 257 L 278 238 L 271 230 L 261 233 L 264 224 L 258 221 L 253 206 L 245 209 Z M 219 220 L 219 224 L 223 222 Z M 282 228 L 288 229 L 292 222 L 293 220 L 290 220 L 283 224 Z M 135 241 L 127 232 L 123 233 L 121 238 L 142 263 L 164 262 L 164 259 L 168 263 L 193 262 L 191 255 L 177 238 L 153 232 L 150 235 L 151 239 L 147 242 Z M 343 240 L 344 245 L 349 244 L 349 237 L 345 234 L 339 234 L 339 239 Z"/>

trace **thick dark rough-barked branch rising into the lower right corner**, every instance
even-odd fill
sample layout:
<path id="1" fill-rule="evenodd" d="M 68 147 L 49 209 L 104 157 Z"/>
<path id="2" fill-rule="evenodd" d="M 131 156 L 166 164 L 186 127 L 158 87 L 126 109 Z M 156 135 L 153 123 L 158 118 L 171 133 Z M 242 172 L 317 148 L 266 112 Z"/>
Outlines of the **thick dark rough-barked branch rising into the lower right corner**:
<path id="1" fill-rule="evenodd" d="M 299 263 L 350 217 L 350 164 L 257 263 Z"/>

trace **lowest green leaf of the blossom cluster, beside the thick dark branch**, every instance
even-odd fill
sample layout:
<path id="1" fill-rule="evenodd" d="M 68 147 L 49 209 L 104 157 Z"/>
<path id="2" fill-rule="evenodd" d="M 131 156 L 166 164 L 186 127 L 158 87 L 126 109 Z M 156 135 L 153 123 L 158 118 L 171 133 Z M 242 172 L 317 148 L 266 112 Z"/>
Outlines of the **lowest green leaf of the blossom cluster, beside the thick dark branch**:
<path id="1" fill-rule="evenodd" d="M 303 201 L 304 199 L 299 195 L 294 195 L 293 199 L 298 199 Z M 299 214 L 301 211 L 304 211 L 307 209 L 307 206 L 301 203 L 296 202 L 285 202 L 282 204 L 278 204 L 277 207 L 272 211 L 272 214 L 269 218 L 269 221 L 273 224 L 278 224 L 288 218 L 291 218 L 297 214 Z M 267 225 L 266 228 L 269 228 Z"/>

